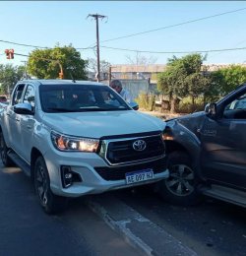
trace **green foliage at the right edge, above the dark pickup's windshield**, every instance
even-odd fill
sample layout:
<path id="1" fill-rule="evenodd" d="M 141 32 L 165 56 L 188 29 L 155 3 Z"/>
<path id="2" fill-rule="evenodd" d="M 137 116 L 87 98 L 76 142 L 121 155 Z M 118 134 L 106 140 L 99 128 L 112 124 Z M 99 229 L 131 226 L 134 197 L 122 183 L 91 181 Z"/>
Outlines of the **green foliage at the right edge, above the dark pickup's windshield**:
<path id="1" fill-rule="evenodd" d="M 226 96 L 237 86 L 246 82 L 246 68 L 239 65 L 219 69 L 212 74 L 215 87 L 219 89 L 220 96 Z"/>

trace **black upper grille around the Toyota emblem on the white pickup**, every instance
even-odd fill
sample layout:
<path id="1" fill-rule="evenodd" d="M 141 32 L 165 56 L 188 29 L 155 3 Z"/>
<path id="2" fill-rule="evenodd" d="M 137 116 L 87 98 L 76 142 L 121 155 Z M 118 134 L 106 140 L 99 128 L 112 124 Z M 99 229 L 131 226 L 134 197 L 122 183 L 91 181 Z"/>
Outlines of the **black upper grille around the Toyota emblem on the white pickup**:
<path id="1" fill-rule="evenodd" d="M 146 142 L 144 151 L 136 151 L 133 143 L 137 140 Z M 164 143 L 160 135 L 134 138 L 132 140 L 113 141 L 108 143 L 106 159 L 111 163 L 123 163 L 136 160 L 148 160 L 164 155 Z"/>

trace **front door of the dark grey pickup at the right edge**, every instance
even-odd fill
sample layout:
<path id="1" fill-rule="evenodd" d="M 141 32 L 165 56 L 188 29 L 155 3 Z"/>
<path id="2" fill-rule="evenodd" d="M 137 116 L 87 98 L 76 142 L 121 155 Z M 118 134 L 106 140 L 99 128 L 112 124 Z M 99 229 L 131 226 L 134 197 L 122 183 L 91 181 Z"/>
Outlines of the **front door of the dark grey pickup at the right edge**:
<path id="1" fill-rule="evenodd" d="M 246 94 L 227 103 L 222 118 L 207 117 L 201 129 L 203 175 L 246 188 Z"/>

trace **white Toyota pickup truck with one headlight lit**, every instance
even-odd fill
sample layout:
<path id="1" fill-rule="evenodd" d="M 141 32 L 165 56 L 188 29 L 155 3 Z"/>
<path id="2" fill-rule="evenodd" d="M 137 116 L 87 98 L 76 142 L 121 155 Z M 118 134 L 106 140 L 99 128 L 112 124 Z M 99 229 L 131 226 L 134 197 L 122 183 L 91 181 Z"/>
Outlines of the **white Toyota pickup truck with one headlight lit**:
<path id="1" fill-rule="evenodd" d="M 64 210 L 69 197 L 168 177 L 165 122 L 100 83 L 20 81 L 0 126 L 4 165 L 31 176 L 48 214 Z"/>

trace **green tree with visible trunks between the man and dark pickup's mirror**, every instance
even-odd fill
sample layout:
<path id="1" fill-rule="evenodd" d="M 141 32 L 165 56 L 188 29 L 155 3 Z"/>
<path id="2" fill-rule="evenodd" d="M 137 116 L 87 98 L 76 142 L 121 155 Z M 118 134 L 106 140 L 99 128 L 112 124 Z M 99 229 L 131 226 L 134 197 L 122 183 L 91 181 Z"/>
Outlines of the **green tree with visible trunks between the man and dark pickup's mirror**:
<path id="1" fill-rule="evenodd" d="M 210 79 L 202 73 L 203 60 L 197 53 L 168 59 L 166 70 L 157 78 L 157 90 L 169 96 L 171 112 L 178 96 L 191 96 L 194 108 L 195 99 L 206 91 Z"/>

